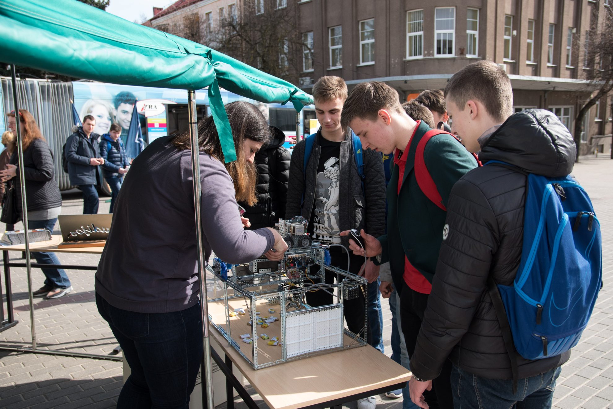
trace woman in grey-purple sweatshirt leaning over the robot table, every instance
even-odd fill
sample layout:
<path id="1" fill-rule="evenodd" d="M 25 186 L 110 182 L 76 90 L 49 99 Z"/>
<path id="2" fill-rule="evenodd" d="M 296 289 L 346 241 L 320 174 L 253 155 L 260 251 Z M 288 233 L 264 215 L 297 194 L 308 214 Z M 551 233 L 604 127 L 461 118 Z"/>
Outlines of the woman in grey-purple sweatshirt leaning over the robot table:
<path id="1" fill-rule="evenodd" d="M 237 161 L 224 164 L 212 117 L 198 123 L 204 260 L 239 264 L 287 250 L 271 228 L 248 231 L 237 199 L 255 202 L 255 153 L 270 138 L 261 112 L 226 105 Z M 132 162 L 96 272 L 98 310 L 132 370 L 118 408 L 188 408 L 202 357 L 189 134 L 154 140 Z M 273 251 L 272 249 L 276 251 Z"/>

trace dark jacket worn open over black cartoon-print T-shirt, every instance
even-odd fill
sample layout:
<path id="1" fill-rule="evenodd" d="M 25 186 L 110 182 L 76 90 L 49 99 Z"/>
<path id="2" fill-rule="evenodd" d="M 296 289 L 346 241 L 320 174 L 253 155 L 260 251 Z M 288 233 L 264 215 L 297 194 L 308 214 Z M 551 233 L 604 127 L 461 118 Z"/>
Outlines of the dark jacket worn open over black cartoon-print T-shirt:
<path id="1" fill-rule="evenodd" d="M 321 148 L 315 139 L 313 151 L 303 174 L 305 141 L 300 141 L 292 153 L 289 166 L 289 185 L 287 187 L 287 206 L 285 217 L 290 219 L 302 215 L 310 219 L 317 186 L 317 168 Z M 381 154 L 367 149 L 364 151 L 364 190 L 353 158 L 351 131 L 345 132 L 341 142 L 340 191 L 338 199 L 338 226 L 340 231 L 364 229 L 368 234 L 378 237 L 385 232 L 385 175 Z M 302 194 L 304 203 L 302 206 Z M 349 247 L 348 239 L 341 243 Z"/>

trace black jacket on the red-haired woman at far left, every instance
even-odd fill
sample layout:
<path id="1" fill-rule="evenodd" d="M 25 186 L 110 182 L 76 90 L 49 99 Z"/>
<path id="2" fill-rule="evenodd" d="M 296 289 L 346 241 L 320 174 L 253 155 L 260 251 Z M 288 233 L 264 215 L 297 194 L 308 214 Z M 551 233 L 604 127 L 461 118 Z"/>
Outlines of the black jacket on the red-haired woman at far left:
<path id="1" fill-rule="evenodd" d="M 10 163 L 17 165 L 17 149 L 13 152 Z M 13 183 L 17 189 L 17 205 L 21 212 L 20 171 L 18 166 L 17 176 L 13 178 Z M 26 180 L 28 212 L 62 205 L 62 196 L 59 194 L 58 183 L 55 182 L 53 154 L 44 139 L 32 140 L 28 149 L 23 151 L 23 177 Z"/>

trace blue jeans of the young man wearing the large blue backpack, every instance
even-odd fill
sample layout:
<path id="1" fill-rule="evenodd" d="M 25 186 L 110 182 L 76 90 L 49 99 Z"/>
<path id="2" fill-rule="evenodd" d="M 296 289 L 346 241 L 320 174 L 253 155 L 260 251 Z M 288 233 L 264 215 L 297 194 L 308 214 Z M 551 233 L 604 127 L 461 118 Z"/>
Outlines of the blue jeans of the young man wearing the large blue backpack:
<path id="1" fill-rule="evenodd" d="M 457 409 L 549 409 L 554 397 L 555 381 L 562 368 L 554 368 L 535 377 L 517 381 L 478 377 L 453 365 L 451 388 Z"/>

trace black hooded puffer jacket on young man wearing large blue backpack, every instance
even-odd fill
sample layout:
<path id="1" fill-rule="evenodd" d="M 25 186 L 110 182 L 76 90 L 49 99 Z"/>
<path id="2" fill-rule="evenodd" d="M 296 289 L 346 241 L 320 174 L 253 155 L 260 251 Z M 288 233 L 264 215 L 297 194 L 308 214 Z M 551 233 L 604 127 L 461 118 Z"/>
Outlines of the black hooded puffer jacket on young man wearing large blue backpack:
<path id="1" fill-rule="evenodd" d="M 525 110 L 482 143 L 479 159 L 507 162 L 527 172 L 564 177 L 573 170 L 568 129 L 546 110 Z M 447 356 L 480 377 L 512 379 L 487 277 L 512 285 L 522 255 L 526 177 L 490 164 L 471 170 L 451 191 L 444 239 L 428 308 L 411 357 L 417 378 L 433 379 Z M 519 378 L 562 365 L 570 353 L 537 361 L 517 355 Z"/>

